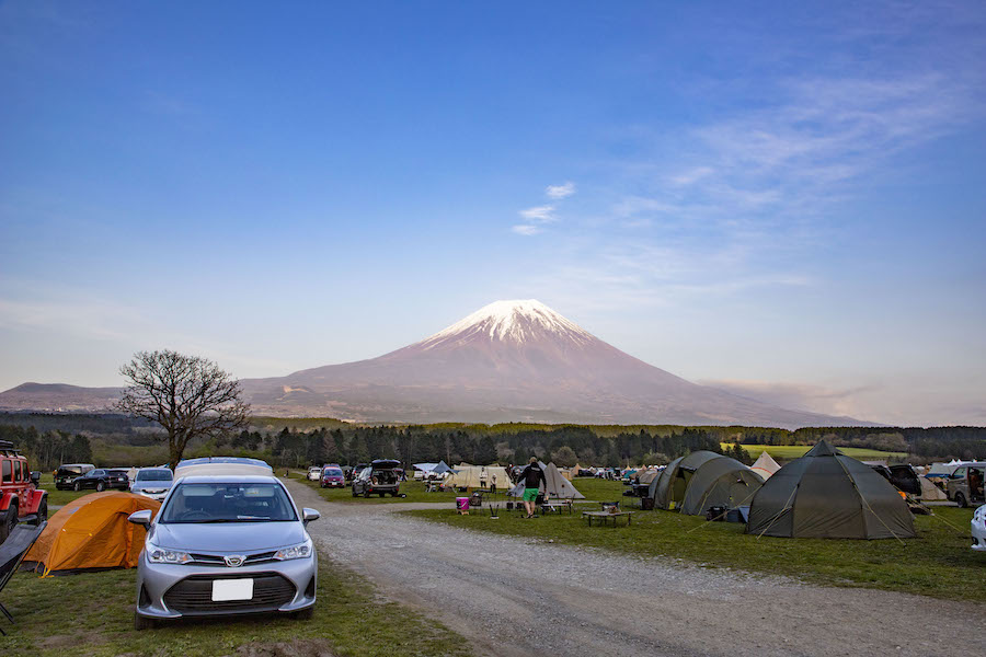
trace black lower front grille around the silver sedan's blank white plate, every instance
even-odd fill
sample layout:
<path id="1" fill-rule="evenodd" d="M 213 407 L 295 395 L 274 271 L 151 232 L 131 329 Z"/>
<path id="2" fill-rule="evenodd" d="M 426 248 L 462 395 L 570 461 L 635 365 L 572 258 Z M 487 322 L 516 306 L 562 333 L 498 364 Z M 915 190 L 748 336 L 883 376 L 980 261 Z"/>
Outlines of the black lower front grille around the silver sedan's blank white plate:
<path id="1" fill-rule="evenodd" d="M 275 611 L 295 598 L 295 585 L 277 573 L 253 574 L 253 598 L 250 600 L 213 601 L 213 580 L 240 579 L 240 575 L 193 575 L 182 579 L 164 593 L 164 604 L 183 614 Z"/>

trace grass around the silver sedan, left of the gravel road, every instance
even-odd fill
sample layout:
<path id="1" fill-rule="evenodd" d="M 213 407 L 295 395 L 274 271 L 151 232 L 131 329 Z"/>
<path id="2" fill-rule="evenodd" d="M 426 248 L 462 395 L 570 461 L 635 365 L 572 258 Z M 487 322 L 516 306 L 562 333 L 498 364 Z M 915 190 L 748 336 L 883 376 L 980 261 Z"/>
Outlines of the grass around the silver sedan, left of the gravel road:
<path id="1" fill-rule="evenodd" d="M 442 624 L 397 602 L 322 555 L 314 618 L 244 616 L 182 621 L 157 630 L 134 630 L 136 570 L 107 570 L 38 578 L 19 573 L 3 590 L 16 624 L 0 619 L 0 655 L 36 657 L 209 657 L 213 655 L 391 657 L 471 655 L 468 644 Z M 291 642 L 295 652 L 273 652 Z M 251 650 L 250 648 L 253 648 Z"/>

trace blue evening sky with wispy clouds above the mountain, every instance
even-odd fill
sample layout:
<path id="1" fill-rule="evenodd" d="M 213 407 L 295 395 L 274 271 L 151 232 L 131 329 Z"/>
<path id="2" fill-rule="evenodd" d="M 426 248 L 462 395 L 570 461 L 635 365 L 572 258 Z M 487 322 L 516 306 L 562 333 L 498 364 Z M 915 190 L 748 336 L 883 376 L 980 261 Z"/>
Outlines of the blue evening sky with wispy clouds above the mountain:
<path id="1" fill-rule="evenodd" d="M 0 3 L 0 389 L 537 298 L 688 379 L 986 424 L 986 7 Z"/>

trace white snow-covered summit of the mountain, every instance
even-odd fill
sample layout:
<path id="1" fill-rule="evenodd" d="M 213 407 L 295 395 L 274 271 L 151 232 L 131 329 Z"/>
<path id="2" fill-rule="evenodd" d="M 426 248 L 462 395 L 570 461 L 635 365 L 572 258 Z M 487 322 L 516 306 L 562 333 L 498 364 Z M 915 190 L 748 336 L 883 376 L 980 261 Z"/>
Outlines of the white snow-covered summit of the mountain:
<path id="1" fill-rule="evenodd" d="M 477 338 L 524 344 L 544 335 L 585 344 L 593 338 L 575 322 L 554 312 L 537 299 L 494 301 L 423 341 L 431 348 L 449 339 Z"/>

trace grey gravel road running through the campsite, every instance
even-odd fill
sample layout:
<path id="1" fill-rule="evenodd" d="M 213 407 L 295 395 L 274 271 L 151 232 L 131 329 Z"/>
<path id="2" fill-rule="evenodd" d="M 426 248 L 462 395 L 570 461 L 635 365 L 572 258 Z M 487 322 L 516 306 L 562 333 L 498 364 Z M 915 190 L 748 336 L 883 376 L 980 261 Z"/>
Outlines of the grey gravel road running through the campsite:
<path id="1" fill-rule="evenodd" d="M 289 486 L 322 512 L 309 526 L 322 550 L 497 657 L 986 648 L 986 606 L 470 532 L 393 512 L 434 505 L 330 504 Z"/>

